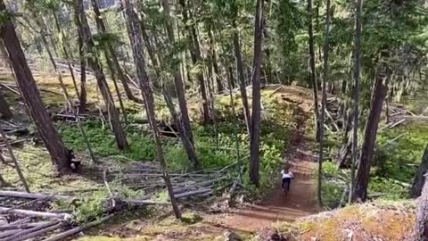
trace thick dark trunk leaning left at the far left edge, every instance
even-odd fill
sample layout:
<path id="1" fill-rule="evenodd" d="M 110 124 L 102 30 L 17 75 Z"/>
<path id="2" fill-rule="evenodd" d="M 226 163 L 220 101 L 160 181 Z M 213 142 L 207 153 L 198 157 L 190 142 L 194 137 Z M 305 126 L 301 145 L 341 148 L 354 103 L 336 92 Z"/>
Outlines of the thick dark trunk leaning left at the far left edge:
<path id="1" fill-rule="evenodd" d="M 0 2 L 0 11 L 5 11 L 4 1 Z M 16 36 L 11 19 L 6 19 L 0 28 L 0 37 L 4 41 L 4 46 L 9 59 L 11 60 L 15 79 L 20 87 L 21 96 L 27 106 L 29 115 L 37 126 L 38 133 L 45 143 L 46 149 L 51 155 L 53 163 L 60 172 L 70 169 L 69 151 L 58 135 L 53 122 L 45 110 L 40 93 L 38 92 L 36 81 L 34 80 L 29 64 L 25 59 L 20 41 Z"/>

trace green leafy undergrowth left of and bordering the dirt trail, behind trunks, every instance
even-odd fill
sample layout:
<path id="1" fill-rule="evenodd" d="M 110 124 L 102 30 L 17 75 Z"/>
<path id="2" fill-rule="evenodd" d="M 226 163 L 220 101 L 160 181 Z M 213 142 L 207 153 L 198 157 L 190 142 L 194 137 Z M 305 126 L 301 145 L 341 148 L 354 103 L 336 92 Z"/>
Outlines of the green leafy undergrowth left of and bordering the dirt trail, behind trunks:
<path id="1" fill-rule="evenodd" d="M 265 92 L 263 95 L 267 95 Z M 216 102 L 217 130 L 213 124 L 208 126 L 193 125 L 193 137 L 196 151 L 202 168 L 230 167 L 230 175 L 237 178 L 237 166 L 242 165 L 243 181 L 249 184 L 249 136 L 243 122 L 243 109 L 235 103 L 235 112 L 240 117 L 237 120 L 231 111 L 230 97 L 223 96 Z M 260 137 L 260 177 L 261 187 L 272 186 L 272 174 L 280 169 L 284 163 L 283 156 L 290 143 L 292 131 L 296 127 L 295 115 L 298 114 L 295 105 L 278 101 L 276 96 L 268 96 L 264 99 L 264 111 L 261 121 Z M 133 109 L 130 125 L 126 129 L 128 134 L 129 149 L 119 151 L 116 148 L 114 137 L 108 129 L 99 121 L 86 121 L 86 135 L 97 156 L 109 156 L 120 162 L 129 160 L 142 162 L 154 161 L 156 148 L 150 131 L 143 129 L 142 125 L 133 123 L 133 120 L 144 120 L 144 113 L 138 112 L 138 105 L 128 106 Z M 162 109 L 162 108 L 161 108 Z M 163 110 L 163 109 L 162 109 Z M 158 116 L 163 115 L 157 110 Z M 77 152 L 86 152 L 86 145 L 76 125 L 62 123 L 59 132 L 64 142 Z M 169 170 L 192 170 L 187 160 L 185 150 L 175 138 L 162 137 L 164 154 L 169 165 Z M 239 145 L 239 147 L 236 145 Z M 239 154 L 237 152 L 239 149 Z M 239 156 L 239 158 L 238 158 Z M 267 188 L 260 188 L 268 190 Z"/>

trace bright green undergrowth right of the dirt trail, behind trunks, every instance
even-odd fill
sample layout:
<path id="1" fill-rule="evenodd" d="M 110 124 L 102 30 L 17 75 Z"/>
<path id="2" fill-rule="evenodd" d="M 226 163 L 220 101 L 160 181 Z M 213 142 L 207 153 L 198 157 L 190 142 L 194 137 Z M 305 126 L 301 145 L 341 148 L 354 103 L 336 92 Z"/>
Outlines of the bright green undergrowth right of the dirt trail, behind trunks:
<path id="1" fill-rule="evenodd" d="M 382 129 L 382 128 L 381 128 Z M 398 137 L 398 138 L 397 138 Z M 405 199 L 422 160 L 428 125 L 412 124 L 380 131 L 370 173 L 369 195 L 383 200 Z M 323 165 L 323 200 L 328 207 L 337 207 L 350 182 L 350 170 L 339 170 L 335 162 Z"/>

